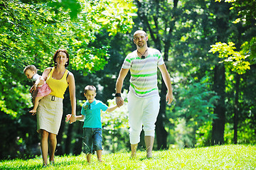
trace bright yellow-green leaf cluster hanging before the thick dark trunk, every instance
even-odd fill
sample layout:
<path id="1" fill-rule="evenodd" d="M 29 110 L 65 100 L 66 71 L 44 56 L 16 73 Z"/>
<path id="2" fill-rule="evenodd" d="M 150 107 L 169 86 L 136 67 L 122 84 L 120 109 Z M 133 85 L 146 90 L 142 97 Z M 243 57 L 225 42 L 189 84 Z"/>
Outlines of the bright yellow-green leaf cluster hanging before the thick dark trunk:
<path id="1" fill-rule="evenodd" d="M 223 59 L 220 63 L 224 63 L 226 68 L 238 74 L 245 74 L 246 70 L 250 69 L 250 62 L 245 61 L 248 56 L 243 52 L 234 51 L 234 45 L 233 42 L 228 42 L 228 45 L 225 42 L 216 42 L 215 45 L 210 45 L 212 48 L 209 52 L 218 52 L 218 57 Z"/>

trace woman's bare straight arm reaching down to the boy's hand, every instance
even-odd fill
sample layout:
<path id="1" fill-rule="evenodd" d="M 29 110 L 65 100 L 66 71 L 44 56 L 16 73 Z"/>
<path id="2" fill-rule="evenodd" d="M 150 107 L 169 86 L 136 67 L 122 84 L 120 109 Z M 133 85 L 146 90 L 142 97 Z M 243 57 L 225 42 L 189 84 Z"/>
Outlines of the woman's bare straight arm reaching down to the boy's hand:
<path id="1" fill-rule="evenodd" d="M 71 108 L 72 108 L 72 116 L 70 118 L 70 123 L 75 122 L 75 114 L 76 114 L 76 98 L 75 98 L 75 77 L 74 75 L 70 72 L 68 74 L 68 86 L 69 86 L 69 93 L 70 93 L 70 103 L 71 103 Z"/>

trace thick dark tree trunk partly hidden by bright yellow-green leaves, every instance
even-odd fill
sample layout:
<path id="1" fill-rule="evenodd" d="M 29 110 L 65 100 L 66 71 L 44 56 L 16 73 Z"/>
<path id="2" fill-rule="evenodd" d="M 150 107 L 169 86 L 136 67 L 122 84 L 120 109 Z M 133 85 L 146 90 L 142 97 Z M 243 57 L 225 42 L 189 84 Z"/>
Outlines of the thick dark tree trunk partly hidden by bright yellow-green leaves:
<path id="1" fill-rule="evenodd" d="M 217 42 L 227 42 L 229 28 L 228 21 L 230 16 L 230 4 L 220 2 L 213 3 L 213 11 L 216 14 L 215 26 L 217 30 Z M 216 64 L 214 69 L 214 90 L 220 96 L 218 103 L 215 105 L 214 113 L 218 116 L 213 120 L 212 145 L 224 144 L 225 131 L 225 67 L 224 64 Z"/>

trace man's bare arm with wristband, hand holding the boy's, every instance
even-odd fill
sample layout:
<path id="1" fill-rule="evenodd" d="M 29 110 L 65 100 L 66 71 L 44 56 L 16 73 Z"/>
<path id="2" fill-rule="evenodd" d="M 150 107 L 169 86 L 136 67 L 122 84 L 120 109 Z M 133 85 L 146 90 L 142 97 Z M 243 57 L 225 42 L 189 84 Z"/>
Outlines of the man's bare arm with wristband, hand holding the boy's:
<path id="1" fill-rule="evenodd" d="M 121 69 L 116 83 L 116 94 L 121 94 L 122 85 L 124 83 L 124 78 L 127 76 L 129 69 Z M 116 97 L 117 106 L 120 107 L 124 104 L 124 99 L 122 97 Z"/>

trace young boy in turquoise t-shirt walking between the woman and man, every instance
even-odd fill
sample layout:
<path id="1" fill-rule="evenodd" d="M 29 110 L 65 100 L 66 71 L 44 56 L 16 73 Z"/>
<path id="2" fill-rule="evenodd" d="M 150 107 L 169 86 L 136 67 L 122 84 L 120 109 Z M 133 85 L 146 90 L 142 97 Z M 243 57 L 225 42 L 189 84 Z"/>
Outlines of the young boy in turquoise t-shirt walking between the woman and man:
<path id="1" fill-rule="evenodd" d="M 84 121 L 83 125 L 83 152 L 87 154 L 87 162 L 90 163 L 93 149 L 96 150 L 97 159 L 102 162 L 102 123 L 100 111 L 112 112 L 117 106 L 107 107 L 102 101 L 95 99 L 95 86 L 85 86 L 85 97 L 87 101 L 82 105 L 81 114 L 75 116 L 76 120 Z M 67 115 L 67 120 L 71 115 Z"/>

